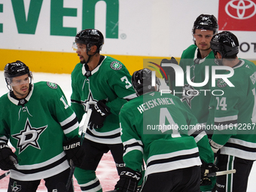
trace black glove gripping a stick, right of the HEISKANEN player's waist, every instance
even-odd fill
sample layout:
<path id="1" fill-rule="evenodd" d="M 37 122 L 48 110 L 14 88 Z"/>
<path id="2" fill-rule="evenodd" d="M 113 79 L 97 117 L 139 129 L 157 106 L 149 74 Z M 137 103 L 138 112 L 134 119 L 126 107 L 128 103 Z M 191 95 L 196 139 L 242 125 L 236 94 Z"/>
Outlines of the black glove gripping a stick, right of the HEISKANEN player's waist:
<path id="1" fill-rule="evenodd" d="M 200 180 L 200 185 L 204 186 L 204 185 L 210 185 L 212 184 L 211 179 L 209 179 L 207 177 L 207 174 L 212 173 L 212 172 L 217 172 L 218 171 L 218 167 L 215 166 L 214 163 L 206 163 L 204 160 L 202 161 L 202 165 L 201 165 L 201 180 Z"/>

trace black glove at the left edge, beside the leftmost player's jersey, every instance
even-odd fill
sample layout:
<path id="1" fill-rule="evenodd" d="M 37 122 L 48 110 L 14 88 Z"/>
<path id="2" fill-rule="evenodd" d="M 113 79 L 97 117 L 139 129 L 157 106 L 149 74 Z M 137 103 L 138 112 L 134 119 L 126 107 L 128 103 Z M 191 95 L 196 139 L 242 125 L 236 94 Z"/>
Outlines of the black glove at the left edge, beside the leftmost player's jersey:
<path id="1" fill-rule="evenodd" d="M 9 169 L 15 169 L 14 164 L 18 163 L 18 158 L 11 148 L 6 145 L 0 145 L 0 169 L 7 171 Z"/>

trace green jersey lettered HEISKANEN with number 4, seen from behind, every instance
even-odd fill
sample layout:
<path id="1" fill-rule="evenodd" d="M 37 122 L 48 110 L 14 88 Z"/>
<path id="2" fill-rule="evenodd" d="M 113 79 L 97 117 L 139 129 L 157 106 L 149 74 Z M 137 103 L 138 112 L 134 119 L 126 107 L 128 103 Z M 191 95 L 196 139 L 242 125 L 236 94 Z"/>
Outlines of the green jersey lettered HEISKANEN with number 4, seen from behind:
<path id="1" fill-rule="evenodd" d="M 151 92 L 127 102 L 120 111 L 120 125 L 123 161 L 140 172 L 144 159 L 145 175 L 200 166 L 200 158 L 213 162 L 206 133 L 172 94 Z"/>

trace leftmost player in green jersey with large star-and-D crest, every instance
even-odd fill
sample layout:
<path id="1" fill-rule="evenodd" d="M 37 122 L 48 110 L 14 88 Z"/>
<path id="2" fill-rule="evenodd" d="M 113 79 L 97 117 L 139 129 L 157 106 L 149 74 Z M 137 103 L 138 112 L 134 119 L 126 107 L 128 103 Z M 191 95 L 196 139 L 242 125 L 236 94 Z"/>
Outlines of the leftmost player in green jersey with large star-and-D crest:
<path id="1" fill-rule="evenodd" d="M 0 98 L 0 169 L 11 171 L 8 192 L 35 192 L 41 179 L 48 191 L 57 191 L 69 178 L 66 154 L 76 156 L 77 166 L 81 161 L 75 112 L 57 84 L 33 84 L 23 62 L 8 63 L 4 74 L 10 92 Z M 66 153 L 63 142 L 68 143 Z M 72 184 L 67 191 L 74 191 Z"/>

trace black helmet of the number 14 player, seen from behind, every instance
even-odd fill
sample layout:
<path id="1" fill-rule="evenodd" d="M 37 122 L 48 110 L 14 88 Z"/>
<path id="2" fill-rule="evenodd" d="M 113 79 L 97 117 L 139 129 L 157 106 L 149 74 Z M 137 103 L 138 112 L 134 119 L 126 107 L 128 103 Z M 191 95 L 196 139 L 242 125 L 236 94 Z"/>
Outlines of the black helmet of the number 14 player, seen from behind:
<path id="1" fill-rule="evenodd" d="M 220 32 L 212 37 L 211 49 L 215 55 L 221 53 L 223 58 L 236 55 L 239 52 L 239 41 L 232 32 Z"/>

